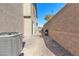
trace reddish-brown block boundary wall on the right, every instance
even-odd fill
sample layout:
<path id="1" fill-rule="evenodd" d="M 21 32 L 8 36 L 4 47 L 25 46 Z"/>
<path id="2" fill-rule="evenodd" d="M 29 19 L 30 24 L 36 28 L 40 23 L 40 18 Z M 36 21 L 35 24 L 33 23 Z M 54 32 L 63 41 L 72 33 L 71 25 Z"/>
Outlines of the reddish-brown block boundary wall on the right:
<path id="1" fill-rule="evenodd" d="M 52 25 L 52 26 L 51 26 Z M 79 55 L 79 4 L 67 4 L 44 28 L 49 37 L 73 55 Z"/>

